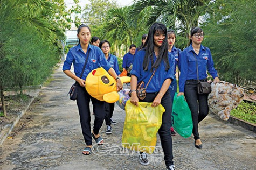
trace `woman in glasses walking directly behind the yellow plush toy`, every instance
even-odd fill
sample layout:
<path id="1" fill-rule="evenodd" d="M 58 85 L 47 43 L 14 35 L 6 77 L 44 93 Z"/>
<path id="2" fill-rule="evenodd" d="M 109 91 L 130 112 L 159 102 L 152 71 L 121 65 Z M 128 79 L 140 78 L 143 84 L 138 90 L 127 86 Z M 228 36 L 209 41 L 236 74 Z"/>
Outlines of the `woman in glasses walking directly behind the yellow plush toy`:
<path id="1" fill-rule="evenodd" d="M 108 63 L 114 68 L 115 73 L 120 76 L 119 66 L 117 62 L 117 58 L 115 55 L 110 54 L 110 43 L 107 40 L 100 41 L 99 48 L 102 50 L 102 52 L 105 55 L 106 60 Z M 112 116 L 115 108 L 115 103 L 107 103 L 105 102 L 105 123 L 107 125 L 106 134 L 112 133 L 112 126 L 111 124 L 116 124 L 115 121 L 113 121 Z"/>

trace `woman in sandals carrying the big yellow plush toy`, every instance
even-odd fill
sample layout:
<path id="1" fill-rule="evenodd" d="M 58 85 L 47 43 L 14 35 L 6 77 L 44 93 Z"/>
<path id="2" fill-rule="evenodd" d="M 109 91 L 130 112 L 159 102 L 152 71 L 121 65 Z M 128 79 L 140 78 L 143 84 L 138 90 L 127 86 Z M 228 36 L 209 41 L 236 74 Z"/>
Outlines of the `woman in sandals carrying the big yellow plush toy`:
<path id="1" fill-rule="evenodd" d="M 92 137 L 96 141 L 96 144 L 103 145 L 103 139 L 99 134 L 99 130 L 102 126 L 102 123 L 105 118 L 104 111 L 104 102 L 99 101 L 96 98 L 92 97 L 88 94 L 85 89 L 85 80 L 87 75 L 98 67 L 103 67 L 108 71 L 110 75 L 114 77 L 116 80 L 117 90 L 122 89 L 122 83 L 119 77 L 116 75 L 115 70 L 106 60 L 104 54 L 102 53 L 99 47 L 93 46 L 89 44 L 91 39 L 91 30 L 87 25 L 80 25 L 77 30 L 77 37 L 79 39 L 79 44 L 75 47 L 70 48 L 70 51 L 67 53 L 67 58 L 64 61 L 63 72 L 77 81 L 80 86 L 78 86 L 78 94 L 77 94 L 77 105 L 80 116 L 80 123 L 82 128 L 82 134 L 85 139 L 86 147 L 82 151 L 83 154 L 89 155 L 92 151 Z M 88 56 L 88 60 L 86 63 L 85 71 L 80 78 L 82 68 L 85 65 L 86 58 Z M 70 69 L 71 65 L 74 66 L 73 74 Z M 93 112 L 94 112 L 94 126 L 93 131 L 91 132 L 91 115 L 89 103 L 92 101 L 93 104 Z"/>

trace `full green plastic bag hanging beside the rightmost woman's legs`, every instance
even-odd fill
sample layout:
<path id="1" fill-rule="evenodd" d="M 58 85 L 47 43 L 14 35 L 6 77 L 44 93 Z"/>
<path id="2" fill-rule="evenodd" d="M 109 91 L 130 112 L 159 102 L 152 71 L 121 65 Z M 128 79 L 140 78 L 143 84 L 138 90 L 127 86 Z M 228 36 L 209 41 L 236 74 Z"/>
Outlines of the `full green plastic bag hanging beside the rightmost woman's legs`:
<path id="1" fill-rule="evenodd" d="M 188 138 L 191 136 L 193 129 L 191 111 L 184 95 L 177 96 L 177 94 L 175 93 L 172 105 L 172 126 L 179 135 Z"/>

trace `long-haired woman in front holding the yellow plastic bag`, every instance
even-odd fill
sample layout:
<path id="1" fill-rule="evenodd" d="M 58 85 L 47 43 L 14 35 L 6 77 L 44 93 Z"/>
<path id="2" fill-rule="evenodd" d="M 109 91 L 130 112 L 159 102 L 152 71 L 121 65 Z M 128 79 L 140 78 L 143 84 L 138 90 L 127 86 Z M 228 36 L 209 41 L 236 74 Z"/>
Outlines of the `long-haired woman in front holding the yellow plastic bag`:
<path id="1" fill-rule="evenodd" d="M 174 169 L 172 154 L 172 140 L 170 135 L 171 126 L 171 96 L 168 90 L 171 81 L 174 79 L 174 56 L 168 53 L 167 28 L 161 23 L 151 25 L 148 38 L 142 49 L 137 52 L 132 69 L 130 102 L 138 105 L 138 102 L 153 102 L 152 107 L 162 104 L 165 112 L 162 116 L 162 125 L 158 130 L 164 152 L 164 160 L 167 169 Z M 139 81 L 148 83 L 154 70 L 152 80 L 146 90 L 144 100 L 139 100 L 136 95 L 136 86 Z M 148 165 L 147 154 L 140 152 L 139 162 Z"/>

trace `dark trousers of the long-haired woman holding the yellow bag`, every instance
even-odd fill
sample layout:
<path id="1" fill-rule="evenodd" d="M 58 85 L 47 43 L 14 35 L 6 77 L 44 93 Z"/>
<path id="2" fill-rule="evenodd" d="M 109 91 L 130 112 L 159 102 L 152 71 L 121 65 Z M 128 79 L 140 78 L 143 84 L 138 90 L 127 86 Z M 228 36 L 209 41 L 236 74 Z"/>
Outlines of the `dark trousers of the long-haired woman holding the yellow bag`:
<path id="1" fill-rule="evenodd" d="M 153 102 L 157 93 L 147 93 L 146 98 L 144 100 L 140 100 L 141 102 Z M 161 145 L 164 152 L 164 161 L 165 165 L 168 167 L 170 165 L 174 165 L 174 155 L 172 154 L 172 139 L 171 139 L 171 109 L 172 109 L 172 103 L 171 103 L 171 96 L 170 91 L 167 90 L 167 92 L 164 94 L 161 100 L 161 104 L 163 105 L 165 112 L 162 116 L 162 125 L 160 129 L 158 130 L 158 134 L 161 139 Z"/>

